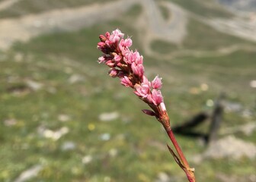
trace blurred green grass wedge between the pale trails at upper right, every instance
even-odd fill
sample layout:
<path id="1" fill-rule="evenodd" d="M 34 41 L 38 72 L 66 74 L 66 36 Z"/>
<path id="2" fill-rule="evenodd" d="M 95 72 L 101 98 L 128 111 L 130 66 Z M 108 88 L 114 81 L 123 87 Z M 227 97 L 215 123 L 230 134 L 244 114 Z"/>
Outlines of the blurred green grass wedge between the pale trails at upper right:
<path id="1" fill-rule="evenodd" d="M 213 30 L 212 27 L 200 23 L 200 21 L 190 18 L 187 25 L 187 36 L 179 45 L 164 40 L 152 42 L 152 49 L 156 52 L 168 54 L 174 51 L 197 50 L 197 51 L 214 51 L 223 49 L 231 45 L 251 45 L 255 46 L 254 42 L 249 42 L 235 36 L 220 33 Z"/>

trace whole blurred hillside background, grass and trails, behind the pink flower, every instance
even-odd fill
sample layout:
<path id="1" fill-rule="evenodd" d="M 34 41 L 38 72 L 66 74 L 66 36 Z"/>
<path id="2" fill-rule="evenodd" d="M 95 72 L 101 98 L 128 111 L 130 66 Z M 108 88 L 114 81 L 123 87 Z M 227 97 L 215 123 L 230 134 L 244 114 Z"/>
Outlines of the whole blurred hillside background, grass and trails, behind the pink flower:
<path id="1" fill-rule="evenodd" d="M 210 153 L 177 136 L 197 180 L 256 181 L 248 14 L 213 0 L 0 0 L 0 181 L 186 181 L 148 107 L 97 62 L 98 36 L 116 28 L 132 36 L 146 76 L 163 78 L 171 125 L 226 93 L 218 138 L 233 143 Z"/>

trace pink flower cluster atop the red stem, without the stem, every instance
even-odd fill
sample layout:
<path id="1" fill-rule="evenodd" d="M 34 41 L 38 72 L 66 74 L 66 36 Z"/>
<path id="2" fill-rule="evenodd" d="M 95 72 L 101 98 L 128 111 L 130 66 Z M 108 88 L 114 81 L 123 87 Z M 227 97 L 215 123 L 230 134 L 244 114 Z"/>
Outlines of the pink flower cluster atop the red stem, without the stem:
<path id="1" fill-rule="evenodd" d="M 111 77 L 119 77 L 123 86 L 132 88 L 139 99 L 157 111 L 155 107 L 164 106 L 160 91 L 162 78 L 156 76 L 152 82 L 147 79 L 144 75 L 142 55 L 139 55 L 137 51 L 131 51 L 129 48 L 133 44 L 132 39 L 129 37 L 123 39 L 123 36 L 123 33 L 117 29 L 99 37 L 101 42 L 98 42 L 98 49 L 103 52 L 103 55 L 98 58 L 98 62 L 107 64 L 110 67 Z M 149 110 L 144 112 L 148 115 L 155 115 Z"/>

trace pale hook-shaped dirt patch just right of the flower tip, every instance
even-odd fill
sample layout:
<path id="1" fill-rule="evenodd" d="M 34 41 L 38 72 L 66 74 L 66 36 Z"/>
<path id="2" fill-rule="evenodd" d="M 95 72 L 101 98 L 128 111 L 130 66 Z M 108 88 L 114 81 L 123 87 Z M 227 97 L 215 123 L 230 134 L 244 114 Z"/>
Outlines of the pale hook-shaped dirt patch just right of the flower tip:
<path id="1" fill-rule="evenodd" d="M 137 20 L 136 27 L 141 30 L 140 37 L 146 54 L 155 55 L 154 50 L 151 49 L 151 42 L 155 39 L 180 44 L 187 35 L 187 14 L 183 9 L 170 2 L 162 2 L 162 5 L 171 12 L 171 17 L 165 20 L 153 0 L 142 2 L 145 13 Z"/>

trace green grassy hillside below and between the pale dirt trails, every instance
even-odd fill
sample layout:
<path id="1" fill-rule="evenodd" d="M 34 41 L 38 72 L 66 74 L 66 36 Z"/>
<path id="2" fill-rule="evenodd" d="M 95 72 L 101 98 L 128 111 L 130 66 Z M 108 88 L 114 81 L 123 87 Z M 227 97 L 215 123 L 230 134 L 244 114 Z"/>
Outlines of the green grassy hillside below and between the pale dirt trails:
<path id="1" fill-rule="evenodd" d="M 169 141 L 158 121 L 143 115 L 141 109 L 146 105 L 132 90 L 120 86 L 118 79 L 108 77 L 107 67 L 97 62 L 101 55 L 96 49 L 98 35 L 117 27 L 133 36 L 133 49 L 142 50 L 138 30 L 126 18 L 76 32 L 38 36 L 1 52 L 0 181 L 14 181 L 35 165 L 41 170 L 27 181 L 146 182 L 163 174 L 174 181 L 185 181 L 184 172 L 168 153 L 165 143 Z M 216 36 L 221 39 L 216 40 Z M 212 41 L 208 44 L 198 37 Z M 241 43 L 253 44 L 192 20 L 184 47 L 171 45 L 170 50 L 210 51 Z M 158 45 L 166 49 L 162 42 Z M 155 50 L 161 53 L 162 49 Z M 162 53 L 166 52 L 168 49 Z M 255 111 L 255 90 L 249 86 L 255 79 L 255 55 L 238 51 L 170 60 L 144 57 L 146 75 L 151 79 L 156 74 L 163 77 L 162 93 L 174 125 L 199 111 L 210 111 L 212 106 L 207 101 L 216 99 L 222 91 L 229 102 Z M 209 89 L 201 89 L 202 83 Z M 102 113 L 116 113 L 117 117 L 102 121 Z M 222 128 L 252 121 L 255 115 L 245 118 L 241 112 L 226 112 Z M 203 132 L 207 129 L 207 124 L 200 128 Z M 63 130 L 61 137 L 53 135 Z M 255 132 L 249 137 L 234 134 L 256 142 Z M 178 136 L 178 141 L 197 169 L 198 181 L 222 181 L 217 178 L 219 174 L 239 179 L 254 174 L 255 159 L 206 158 L 196 164 L 194 155 L 206 147 L 192 138 Z"/>

